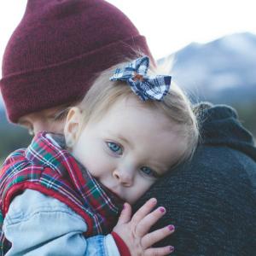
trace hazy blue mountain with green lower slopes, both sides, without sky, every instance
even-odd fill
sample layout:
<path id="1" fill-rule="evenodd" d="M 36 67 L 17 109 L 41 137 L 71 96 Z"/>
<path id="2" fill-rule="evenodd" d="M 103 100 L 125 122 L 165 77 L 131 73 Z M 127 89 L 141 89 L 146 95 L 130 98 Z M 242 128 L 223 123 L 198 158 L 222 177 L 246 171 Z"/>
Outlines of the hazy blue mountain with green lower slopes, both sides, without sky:
<path id="1" fill-rule="evenodd" d="M 172 79 L 187 90 L 195 102 L 230 104 L 256 137 L 256 35 L 238 33 L 208 44 L 189 44 L 159 62 L 171 65 L 168 60 L 172 59 Z M 25 129 L 8 124 L 0 96 L 0 162 L 30 140 Z"/>

